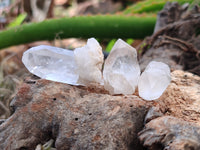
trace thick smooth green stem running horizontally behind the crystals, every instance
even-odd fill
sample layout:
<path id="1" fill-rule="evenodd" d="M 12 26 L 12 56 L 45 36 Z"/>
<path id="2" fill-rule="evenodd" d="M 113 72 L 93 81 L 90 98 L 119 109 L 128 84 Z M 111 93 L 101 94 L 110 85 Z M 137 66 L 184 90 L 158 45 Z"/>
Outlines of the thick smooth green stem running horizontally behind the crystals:
<path id="1" fill-rule="evenodd" d="M 29 23 L 0 32 L 0 49 L 56 38 L 144 38 L 151 35 L 156 17 L 79 16 Z"/>

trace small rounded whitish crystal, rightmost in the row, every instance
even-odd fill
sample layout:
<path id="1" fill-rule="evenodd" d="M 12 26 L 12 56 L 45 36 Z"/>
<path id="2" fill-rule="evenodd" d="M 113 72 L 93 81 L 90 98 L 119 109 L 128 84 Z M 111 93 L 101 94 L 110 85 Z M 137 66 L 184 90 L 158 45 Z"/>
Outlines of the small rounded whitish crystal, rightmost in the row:
<path id="1" fill-rule="evenodd" d="M 152 61 L 139 79 L 139 95 L 145 100 L 155 100 L 163 94 L 170 81 L 169 66 L 162 62 Z"/>

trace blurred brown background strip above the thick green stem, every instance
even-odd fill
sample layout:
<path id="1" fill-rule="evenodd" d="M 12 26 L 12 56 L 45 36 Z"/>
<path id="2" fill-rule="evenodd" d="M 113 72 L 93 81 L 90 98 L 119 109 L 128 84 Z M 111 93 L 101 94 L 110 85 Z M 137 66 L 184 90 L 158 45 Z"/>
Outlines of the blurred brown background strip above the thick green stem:
<path id="1" fill-rule="evenodd" d="M 16 17 L 20 18 L 19 25 L 46 18 L 114 14 L 136 1 L 139 0 L 0 0 L 0 29 L 11 26 Z"/>

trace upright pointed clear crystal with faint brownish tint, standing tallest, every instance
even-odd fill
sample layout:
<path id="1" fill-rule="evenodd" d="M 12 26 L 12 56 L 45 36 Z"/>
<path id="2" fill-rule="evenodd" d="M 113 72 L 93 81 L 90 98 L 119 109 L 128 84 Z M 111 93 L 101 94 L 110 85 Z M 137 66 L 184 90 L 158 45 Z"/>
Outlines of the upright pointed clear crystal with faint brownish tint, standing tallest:
<path id="1" fill-rule="evenodd" d="M 118 39 L 104 64 L 104 88 L 110 94 L 133 94 L 139 76 L 137 51 Z"/>

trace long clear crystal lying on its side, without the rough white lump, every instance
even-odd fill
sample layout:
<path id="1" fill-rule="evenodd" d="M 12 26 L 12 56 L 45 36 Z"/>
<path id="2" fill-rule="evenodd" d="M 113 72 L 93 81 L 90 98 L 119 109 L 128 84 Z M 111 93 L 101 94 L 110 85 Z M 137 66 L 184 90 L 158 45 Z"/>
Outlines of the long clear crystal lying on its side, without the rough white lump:
<path id="1" fill-rule="evenodd" d="M 53 46 L 36 46 L 24 52 L 22 62 L 40 78 L 77 85 L 77 65 L 73 51 Z"/>

